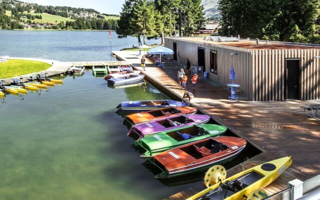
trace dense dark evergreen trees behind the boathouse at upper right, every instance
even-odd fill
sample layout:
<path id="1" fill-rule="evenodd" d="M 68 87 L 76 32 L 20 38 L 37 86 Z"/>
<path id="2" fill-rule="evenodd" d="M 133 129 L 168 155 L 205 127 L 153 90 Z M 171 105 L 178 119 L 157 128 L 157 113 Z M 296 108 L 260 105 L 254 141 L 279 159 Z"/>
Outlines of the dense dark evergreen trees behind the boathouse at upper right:
<path id="1" fill-rule="evenodd" d="M 220 34 L 320 43 L 319 0 L 219 0 Z"/>

